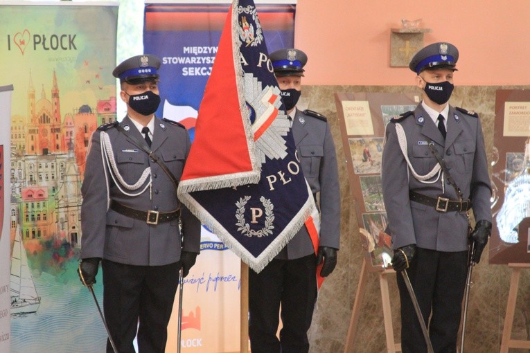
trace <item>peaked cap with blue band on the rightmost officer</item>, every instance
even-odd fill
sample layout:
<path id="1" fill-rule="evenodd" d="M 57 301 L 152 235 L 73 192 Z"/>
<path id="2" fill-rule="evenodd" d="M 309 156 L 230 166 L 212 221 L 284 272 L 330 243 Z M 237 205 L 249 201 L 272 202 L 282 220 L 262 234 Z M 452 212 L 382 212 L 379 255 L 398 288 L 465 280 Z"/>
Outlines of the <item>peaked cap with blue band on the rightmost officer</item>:
<path id="1" fill-rule="evenodd" d="M 423 70 L 452 69 L 458 61 L 458 49 L 447 42 L 433 43 L 418 51 L 410 60 L 409 69 L 419 75 Z"/>

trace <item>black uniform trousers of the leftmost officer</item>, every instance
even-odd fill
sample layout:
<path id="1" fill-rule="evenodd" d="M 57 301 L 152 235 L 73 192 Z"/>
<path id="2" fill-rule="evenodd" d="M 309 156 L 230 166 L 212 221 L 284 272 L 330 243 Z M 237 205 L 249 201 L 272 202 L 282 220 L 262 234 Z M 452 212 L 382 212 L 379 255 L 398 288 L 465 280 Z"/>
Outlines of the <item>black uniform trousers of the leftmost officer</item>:
<path id="1" fill-rule="evenodd" d="M 164 353 L 168 323 L 179 283 L 179 262 L 133 266 L 103 260 L 105 320 L 120 353 Z M 139 324 L 139 325 L 138 325 Z M 107 340 L 107 353 L 113 353 Z"/>

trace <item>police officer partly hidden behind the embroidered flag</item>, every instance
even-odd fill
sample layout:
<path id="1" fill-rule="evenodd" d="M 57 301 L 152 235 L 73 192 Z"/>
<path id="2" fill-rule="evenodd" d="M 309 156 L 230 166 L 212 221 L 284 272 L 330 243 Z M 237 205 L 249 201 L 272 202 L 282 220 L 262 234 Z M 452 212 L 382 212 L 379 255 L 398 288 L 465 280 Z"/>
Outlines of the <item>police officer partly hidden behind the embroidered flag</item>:
<path id="1" fill-rule="evenodd" d="M 321 229 L 318 255 L 305 226 L 263 271 L 249 270 L 249 336 L 253 353 L 308 352 L 307 332 L 317 296 L 317 264 L 329 275 L 337 264 L 340 235 L 340 194 L 337 157 L 326 118 L 296 108 L 307 56 L 297 49 L 270 54 L 283 103 L 292 121 L 303 174 L 319 199 Z M 319 194 L 319 197 L 317 197 Z M 283 328 L 276 338 L 279 311 Z"/>

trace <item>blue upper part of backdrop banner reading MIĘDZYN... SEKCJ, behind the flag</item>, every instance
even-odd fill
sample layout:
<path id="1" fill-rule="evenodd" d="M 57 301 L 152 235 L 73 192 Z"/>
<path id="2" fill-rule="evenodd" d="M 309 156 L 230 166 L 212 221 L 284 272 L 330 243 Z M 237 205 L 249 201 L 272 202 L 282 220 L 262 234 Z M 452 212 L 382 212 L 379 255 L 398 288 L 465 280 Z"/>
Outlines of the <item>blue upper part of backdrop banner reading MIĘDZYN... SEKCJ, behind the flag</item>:
<path id="1" fill-rule="evenodd" d="M 145 6 L 143 48 L 161 58 L 157 116 L 180 121 L 193 139 L 195 119 L 230 4 Z M 295 5 L 256 5 L 269 53 L 294 46 Z"/>

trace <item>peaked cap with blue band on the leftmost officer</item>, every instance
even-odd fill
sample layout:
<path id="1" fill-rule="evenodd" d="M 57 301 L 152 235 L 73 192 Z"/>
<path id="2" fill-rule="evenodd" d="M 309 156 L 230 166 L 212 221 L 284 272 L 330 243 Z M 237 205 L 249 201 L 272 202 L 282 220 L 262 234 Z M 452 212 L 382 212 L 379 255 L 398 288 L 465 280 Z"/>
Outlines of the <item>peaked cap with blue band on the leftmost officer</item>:
<path id="1" fill-rule="evenodd" d="M 121 62 L 112 71 L 115 78 L 120 82 L 136 80 L 152 80 L 159 77 L 157 70 L 160 68 L 160 59 L 154 55 L 136 55 Z"/>

